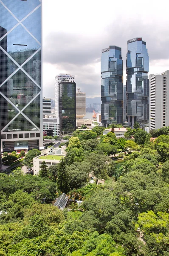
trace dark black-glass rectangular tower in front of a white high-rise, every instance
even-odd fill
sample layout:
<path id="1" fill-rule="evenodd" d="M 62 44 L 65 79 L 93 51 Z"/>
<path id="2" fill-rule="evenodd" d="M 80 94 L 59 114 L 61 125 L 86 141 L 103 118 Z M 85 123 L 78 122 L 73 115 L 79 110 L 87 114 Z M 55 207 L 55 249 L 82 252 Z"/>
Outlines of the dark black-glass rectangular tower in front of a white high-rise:
<path id="1" fill-rule="evenodd" d="M 76 130 L 76 83 L 59 83 L 60 134 Z"/>

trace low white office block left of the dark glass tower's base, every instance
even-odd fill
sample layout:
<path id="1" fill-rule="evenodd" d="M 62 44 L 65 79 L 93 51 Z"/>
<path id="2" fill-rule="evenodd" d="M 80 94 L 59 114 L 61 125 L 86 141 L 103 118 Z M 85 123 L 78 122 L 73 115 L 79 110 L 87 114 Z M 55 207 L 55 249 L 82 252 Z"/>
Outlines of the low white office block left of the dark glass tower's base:
<path id="1" fill-rule="evenodd" d="M 43 118 L 43 136 L 60 136 L 59 117 L 45 115 Z"/>

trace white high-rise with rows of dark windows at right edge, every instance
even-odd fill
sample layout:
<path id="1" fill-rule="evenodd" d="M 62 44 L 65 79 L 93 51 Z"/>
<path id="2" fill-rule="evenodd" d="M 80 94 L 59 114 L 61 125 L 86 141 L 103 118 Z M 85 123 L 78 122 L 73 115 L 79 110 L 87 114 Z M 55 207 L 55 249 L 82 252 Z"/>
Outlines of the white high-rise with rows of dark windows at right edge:
<path id="1" fill-rule="evenodd" d="M 149 75 L 149 129 L 169 126 L 169 70 Z"/>

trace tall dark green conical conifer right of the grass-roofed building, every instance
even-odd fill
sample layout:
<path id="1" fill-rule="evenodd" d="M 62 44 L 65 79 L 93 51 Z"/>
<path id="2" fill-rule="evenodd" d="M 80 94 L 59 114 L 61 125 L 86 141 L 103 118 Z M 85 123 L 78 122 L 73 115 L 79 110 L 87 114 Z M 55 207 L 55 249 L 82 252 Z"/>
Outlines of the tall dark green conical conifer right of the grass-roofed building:
<path id="1" fill-rule="evenodd" d="M 68 172 L 66 170 L 66 163 L 64 158 L 62 158 L 58 164 L 57 188 L 61 192 L 67 193 L 69 191 Z"/>

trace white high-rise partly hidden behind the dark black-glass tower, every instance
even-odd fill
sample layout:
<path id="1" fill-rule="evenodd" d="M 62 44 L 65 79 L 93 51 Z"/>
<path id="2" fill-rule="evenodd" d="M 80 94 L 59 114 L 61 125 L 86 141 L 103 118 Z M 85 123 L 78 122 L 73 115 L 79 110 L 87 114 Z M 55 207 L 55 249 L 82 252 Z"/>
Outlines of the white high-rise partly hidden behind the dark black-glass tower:
<path id="1" fill-rule="evenodd" d="M 59 83 L 62 81 L 74 82 L 75 76 L 70 74 L 59 74 L 55 76 L 55 115 L 59 116 Z"/>

